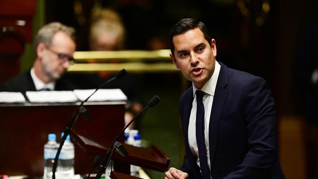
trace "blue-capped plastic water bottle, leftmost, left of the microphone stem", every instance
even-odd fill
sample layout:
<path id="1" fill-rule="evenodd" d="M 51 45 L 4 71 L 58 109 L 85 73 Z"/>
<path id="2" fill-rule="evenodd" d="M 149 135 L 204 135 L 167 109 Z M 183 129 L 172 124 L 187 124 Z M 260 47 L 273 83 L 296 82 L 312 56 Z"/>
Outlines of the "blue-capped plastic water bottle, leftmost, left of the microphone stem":
<path id="1" fill-rule="evenodd" d="M 44 145 L 44 179 L 52 179 L 52 169 L 54 158 L 57 152 L 58 143 L 56 142 L 55 134 L 48 134 L 48 141 Z"/>

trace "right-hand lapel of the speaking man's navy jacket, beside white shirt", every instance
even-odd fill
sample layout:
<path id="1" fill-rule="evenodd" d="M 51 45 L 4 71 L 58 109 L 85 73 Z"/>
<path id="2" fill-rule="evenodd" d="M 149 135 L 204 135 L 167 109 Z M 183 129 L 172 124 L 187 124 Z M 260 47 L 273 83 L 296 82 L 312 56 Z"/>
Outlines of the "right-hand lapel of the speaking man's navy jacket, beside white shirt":
<path id="1" fill-rule="evenodd" d="M 220 63 L 220 62 L 219 62 Z M 216 89 L 213 97 L 212 110 L 209 123 L 209 151 L 210 151 L 210 166 L 213 168 L 213 160 L 219 134 L 219 124 L 221 115 L 227 100 L 228 90 L 225 87 L 228 84 L 228 68 L 220 63 L 221 70 L 219 73 Z"/>

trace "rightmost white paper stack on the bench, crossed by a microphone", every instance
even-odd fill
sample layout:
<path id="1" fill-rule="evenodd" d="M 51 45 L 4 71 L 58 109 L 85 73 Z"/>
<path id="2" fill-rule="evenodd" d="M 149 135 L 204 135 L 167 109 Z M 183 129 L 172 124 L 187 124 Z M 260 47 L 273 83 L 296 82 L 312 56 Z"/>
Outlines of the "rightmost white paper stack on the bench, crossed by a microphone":
<path id="1" fill-rule="evenodd" d="M 81 101 L 88 98 L 95 89 L 91 90 L 73 90 L 75 95 Z M 99 89 L 97 90 L 88 101 L 126 101 L 127 96 L 120 89 Z"/>

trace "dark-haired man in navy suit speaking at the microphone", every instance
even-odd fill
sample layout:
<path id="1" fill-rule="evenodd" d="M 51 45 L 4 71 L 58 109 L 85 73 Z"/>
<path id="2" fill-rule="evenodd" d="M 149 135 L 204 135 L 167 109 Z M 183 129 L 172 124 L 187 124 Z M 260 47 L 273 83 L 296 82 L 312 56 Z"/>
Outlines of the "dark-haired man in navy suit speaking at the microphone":
<path id="1" fill-rule="evenodd" d="M 175 67 L 193 86 L 180 99 L 183 166 L 165 178 L 284 179 L 265 80 L 216 61 L 216 42 L 195 19 L 177 22 L 169 39 Z"/>

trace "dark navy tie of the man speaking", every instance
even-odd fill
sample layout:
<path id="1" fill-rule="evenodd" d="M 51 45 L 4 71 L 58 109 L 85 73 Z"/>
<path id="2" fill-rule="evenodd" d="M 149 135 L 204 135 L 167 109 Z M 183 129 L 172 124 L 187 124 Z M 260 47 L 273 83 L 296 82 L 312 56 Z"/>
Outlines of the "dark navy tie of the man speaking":
<path id="1" fill-rule="evenodd" d="M 197 119 L 196 119 L 196 138 L 199 150 L 200 169 L 202 179 L 210 179 L 210 170 L 207 165 L 206 147 L 204 143 L 204 105 L 202 102 L 204 92 L 202 90 L 196 91 L 197 99 Z"/>

